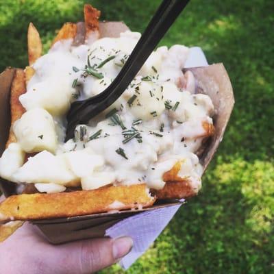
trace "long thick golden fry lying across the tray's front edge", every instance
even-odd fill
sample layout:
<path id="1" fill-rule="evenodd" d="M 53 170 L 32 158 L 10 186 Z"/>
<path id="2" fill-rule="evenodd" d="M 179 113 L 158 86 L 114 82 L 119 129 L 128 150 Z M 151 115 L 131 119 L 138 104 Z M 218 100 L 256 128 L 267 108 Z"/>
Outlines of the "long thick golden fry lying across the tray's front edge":
<path id="1" fill-rule="evenodd" d="M 119 201 L 119 203 L 116 203 Z M 81 216 L 109 210 L 149 207 L 155 201 L 145 184 L 107 186 L 52 194 L 13 195 L 0 204 L 0 221 Z M 2 218 L 1 218 L 2 217 Z"/>

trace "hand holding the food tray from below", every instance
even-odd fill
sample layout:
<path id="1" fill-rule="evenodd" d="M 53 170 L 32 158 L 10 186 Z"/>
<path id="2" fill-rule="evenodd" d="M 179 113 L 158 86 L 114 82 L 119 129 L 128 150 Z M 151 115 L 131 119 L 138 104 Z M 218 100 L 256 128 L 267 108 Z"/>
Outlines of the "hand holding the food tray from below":
<path id="1" fill-rule="evenodd" d="M 114 264 L 131 248 L 127 236 L 51 245 L 34 225 L 25 223 L 0 243 L 0 273 L 93 273 Z"/>

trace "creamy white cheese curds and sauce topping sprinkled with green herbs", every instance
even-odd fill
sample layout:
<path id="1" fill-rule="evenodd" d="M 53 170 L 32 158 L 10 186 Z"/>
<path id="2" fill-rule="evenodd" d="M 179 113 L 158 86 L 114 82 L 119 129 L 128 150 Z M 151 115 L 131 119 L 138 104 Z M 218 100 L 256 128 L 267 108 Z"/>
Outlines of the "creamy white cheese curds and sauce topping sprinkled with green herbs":
<path id="1" fill-rule="evenodd" d="M 64 40 L 33 64 L 36 72 L 20 97 L 27 111 L 13 127 L 17 142 L 0 159 L 1 177 L 48 193 L 143 182 L 161 189 L 163 174 L 180 162 L 178 175 L 199 190 L 203 169 L 195 153 L 214 106 L 195 94 L 192 73 L 182 72 L 188 47 L 156 49 L 123 95 L 64 143 L 71 102 L 105 90 L 139 38 L 127 31 L 79 47 Z M 37 154 L 24 163 L 30 152 Z"/>

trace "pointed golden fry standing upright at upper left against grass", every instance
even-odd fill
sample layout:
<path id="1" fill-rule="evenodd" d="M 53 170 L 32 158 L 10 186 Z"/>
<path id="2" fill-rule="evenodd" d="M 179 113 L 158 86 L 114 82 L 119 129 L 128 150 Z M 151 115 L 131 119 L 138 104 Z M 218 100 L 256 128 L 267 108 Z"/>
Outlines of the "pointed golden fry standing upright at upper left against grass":
<path id="1" fill-rule="evenodd" d="M 27 51 L 29 54 L 29 66 L 31 66 L 42 55 L 42 42 L 39 32 L 33 23 L 29 23 L 29 28 L 27 29 Z"/>

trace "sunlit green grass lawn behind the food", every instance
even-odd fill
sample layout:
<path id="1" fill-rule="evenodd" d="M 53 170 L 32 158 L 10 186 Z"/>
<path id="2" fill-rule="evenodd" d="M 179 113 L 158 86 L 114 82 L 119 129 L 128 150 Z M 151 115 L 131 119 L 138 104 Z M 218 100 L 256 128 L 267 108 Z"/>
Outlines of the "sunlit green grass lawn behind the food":
<path id="1" fill-rule="evenodd" d="M 62 23 L 82 20 L 83 3 L 0 0 L 0 70 L 27 64 L 29 21 L 49 47 Z M 160 1 L 90 3 L 102 18 L 142 31 Z M 192 0 L 162 40 L 199 45 L 210 63 L 223 62 L 236 105 L 201 194 L 127 273 L 274 273 L 273 12 L 272 0 Z"/>

